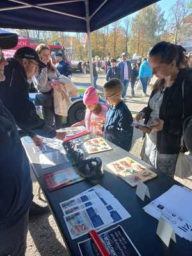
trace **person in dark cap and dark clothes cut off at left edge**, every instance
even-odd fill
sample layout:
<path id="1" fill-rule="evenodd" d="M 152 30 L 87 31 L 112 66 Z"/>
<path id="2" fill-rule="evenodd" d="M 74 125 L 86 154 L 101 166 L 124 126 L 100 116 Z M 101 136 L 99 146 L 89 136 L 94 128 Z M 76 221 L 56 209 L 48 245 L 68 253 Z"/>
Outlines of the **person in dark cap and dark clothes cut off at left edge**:
<path id="1" fill-rule="evenodd" d="M 0 81 L 4 81 L 4 67 L 8 65 L 2 49 L 15 47 L 17 40 L 16 34 L 0 34 Z M 0 255 L 23 256 L 33 200 L 32 182 L 15 120 L 1 99 L 0 156 Z"/>

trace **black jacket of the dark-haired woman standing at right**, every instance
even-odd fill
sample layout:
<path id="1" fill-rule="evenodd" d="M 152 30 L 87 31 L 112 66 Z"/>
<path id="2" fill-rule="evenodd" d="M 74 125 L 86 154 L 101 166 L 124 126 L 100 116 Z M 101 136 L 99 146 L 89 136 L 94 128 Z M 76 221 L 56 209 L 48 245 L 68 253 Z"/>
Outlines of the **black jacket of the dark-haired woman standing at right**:
<path id="1" fill-rule="evenodd" d="M 175 82 L 164 91 L 163 102 L 159 111 L 159 118 L 164 120 L 163 131 L 157 132 L 157 150 L 160 154 L 179 154 L 180 138 L 182 136 L 183 100 L 182 82 L 184 83 L 184 120 L 192 115 L 192 68 L 179 71 Z M 154 95 L 151 93 L 150 99 Z M 152 109 L 149 105 L 141 112 L 145 113 L 147 124 Z"/>

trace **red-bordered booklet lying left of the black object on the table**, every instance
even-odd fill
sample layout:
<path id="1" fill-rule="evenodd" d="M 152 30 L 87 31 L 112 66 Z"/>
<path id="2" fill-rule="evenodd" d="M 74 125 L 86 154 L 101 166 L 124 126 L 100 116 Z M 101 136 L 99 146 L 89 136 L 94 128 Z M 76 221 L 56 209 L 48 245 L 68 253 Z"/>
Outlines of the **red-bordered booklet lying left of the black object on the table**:
<path id="1" fill-rule="evenodd" d="M 54 191 L 84 180 L 74 168 L 67 168 L 59 172 L 44 174 L 44 179 L 49 191 Z"/>

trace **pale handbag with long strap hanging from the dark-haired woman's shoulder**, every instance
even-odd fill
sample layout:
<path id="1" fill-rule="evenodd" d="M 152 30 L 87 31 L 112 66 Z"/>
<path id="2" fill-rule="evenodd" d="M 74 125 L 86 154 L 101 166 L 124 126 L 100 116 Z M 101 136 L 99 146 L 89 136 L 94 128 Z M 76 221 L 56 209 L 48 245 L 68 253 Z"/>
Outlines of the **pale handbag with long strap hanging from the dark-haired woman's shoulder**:
<path id="1" fill-rule="evenodd" d="M 183 99 L 183 113 L 182 120 L 184 120 L 184 82 L 182 82 L 182 99 Z M 192 175 L 192 153 L 184 153 L 184 125 L 182 127 L 182 136 L 180 140 L 180 152 L 175 166 L 175 175 L 181 179 L 185 179 Z"/>

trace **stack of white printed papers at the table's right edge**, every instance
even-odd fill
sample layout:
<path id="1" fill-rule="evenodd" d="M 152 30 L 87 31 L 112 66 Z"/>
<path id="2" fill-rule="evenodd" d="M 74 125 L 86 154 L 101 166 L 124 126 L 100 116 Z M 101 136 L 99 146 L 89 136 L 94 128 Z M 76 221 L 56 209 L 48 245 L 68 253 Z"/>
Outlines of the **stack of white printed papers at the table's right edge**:
<path id="1" fill-rule="evenodd" d="M 145 212 L 159 220 L 163 217 L 175 234 L 192 241 L 192 191 L 173 185 L 163 195 L 143 207 Z"/>

